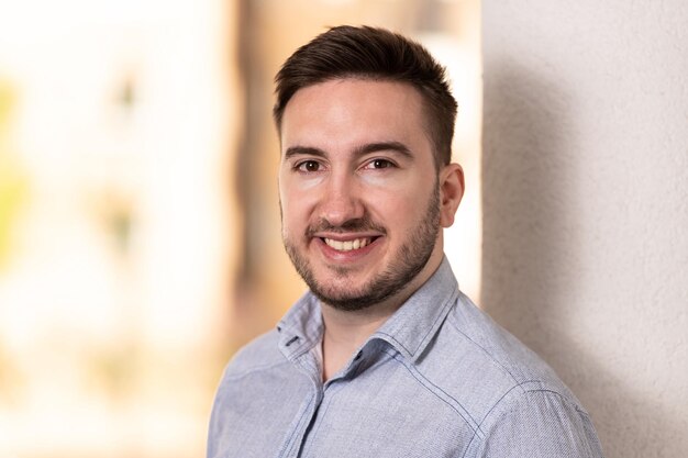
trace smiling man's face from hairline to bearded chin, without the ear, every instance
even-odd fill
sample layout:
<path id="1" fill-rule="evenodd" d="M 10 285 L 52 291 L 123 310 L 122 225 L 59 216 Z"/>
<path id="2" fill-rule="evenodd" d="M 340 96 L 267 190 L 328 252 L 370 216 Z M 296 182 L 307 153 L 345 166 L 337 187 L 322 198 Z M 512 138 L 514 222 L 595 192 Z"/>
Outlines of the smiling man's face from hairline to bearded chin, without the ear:
<path id="1" fill-rule="evenodd" d="M 287 104 L 282 237 L 323 302 L 406 299 L 439 266 L 441 196 L 424 125 L 420 93 L 399 82 L 325 81 Z"/>

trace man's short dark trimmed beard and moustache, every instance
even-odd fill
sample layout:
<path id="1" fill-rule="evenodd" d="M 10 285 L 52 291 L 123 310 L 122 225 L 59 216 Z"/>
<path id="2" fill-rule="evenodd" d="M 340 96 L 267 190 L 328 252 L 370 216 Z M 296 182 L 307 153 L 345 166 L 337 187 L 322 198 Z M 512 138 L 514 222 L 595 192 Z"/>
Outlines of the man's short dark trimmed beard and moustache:
<path id="1" fill-rule="evenodd" d="M 375 230 L 386 233 L 381 225 L 365 216 L 351 220 L 340 227 L 333 227 L 326 222 L 322 222 L 319 227 L 307 230 L 307 239 L 311 238 L 311 233 L 322 230 L 334 232 Z M 433 193 L 429 199 L 428 211 L 408 234 L 406 242 L 393 254 L 391 257 L 392 261 L 381 272 L 369 278 L 358 290 L 355 290 L 353 287 L 347 288 L 346 286 L 334 284 L 335 282 L 341 283 L 336 280 L 329 283 L 318 281 L 308 258 L 286 236 L 282 237 L 282 242 L 293 267 L 306 281 L 311 292 L 334 309 L 353 312 L 384 302 L 408 286 L 428 264 L 435 247 L 439 233 L 440 188 L 435 185 Z M 332 270 L 339 277 L 337 280 L 346 279 L 347 268 L 333 268 Z"/>

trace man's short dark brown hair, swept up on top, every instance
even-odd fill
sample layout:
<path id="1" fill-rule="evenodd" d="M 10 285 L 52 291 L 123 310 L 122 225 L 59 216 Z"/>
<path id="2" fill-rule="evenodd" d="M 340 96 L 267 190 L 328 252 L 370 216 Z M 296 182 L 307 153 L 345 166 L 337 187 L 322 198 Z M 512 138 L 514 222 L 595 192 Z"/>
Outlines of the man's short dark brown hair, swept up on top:
<path id="1" fill-rule="evenodd" d="M 298 48 L 275 77 L 273 116 L 278 132 L 287 103 L 299 89 L 345 78 L 397 81 L 415 88 L 424 103 L 435 167 L 450 164 L 457 105 L 445 69 L 422 45 L 385 29 L 332 27 Z"/>

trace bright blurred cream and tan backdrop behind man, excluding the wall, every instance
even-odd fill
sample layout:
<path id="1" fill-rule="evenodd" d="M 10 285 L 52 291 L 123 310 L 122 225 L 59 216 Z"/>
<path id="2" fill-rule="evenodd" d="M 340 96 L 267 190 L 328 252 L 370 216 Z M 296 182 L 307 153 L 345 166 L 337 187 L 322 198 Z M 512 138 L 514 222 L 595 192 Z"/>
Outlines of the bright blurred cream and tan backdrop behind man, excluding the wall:
<path id="1" fill-rule="evenodd" d="M 477 0 L 0 0 L 0 458 L 199 457 L 222 368 L 304 287 L 273 77 L 329 25 L 424 43 L 459 103 L 480 290 Z"/>

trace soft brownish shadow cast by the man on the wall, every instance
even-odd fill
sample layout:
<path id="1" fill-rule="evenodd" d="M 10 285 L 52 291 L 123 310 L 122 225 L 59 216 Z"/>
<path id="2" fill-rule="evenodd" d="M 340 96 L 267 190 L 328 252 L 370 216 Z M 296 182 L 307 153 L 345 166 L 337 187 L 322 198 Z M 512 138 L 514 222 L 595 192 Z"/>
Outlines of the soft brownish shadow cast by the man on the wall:
<path id="1" fill-rule="evenodd" d="M 607 458 L 663 457 L 670 422 L 586 345 L 580 312 L 585 209 L 575 100 L 515 63 L 486 72 L 482 308 L 540 354 L 586 406 Z M 499 69 L 499 71 L 497 71 Z M 600 254 L 603 255 L 603 254 Z M 578 316 L 579 317 L 579 316 Z M 675 434 L 675 433 L 672 433 Z M 666 436 L 672 437 L 672 436 Z"/>

